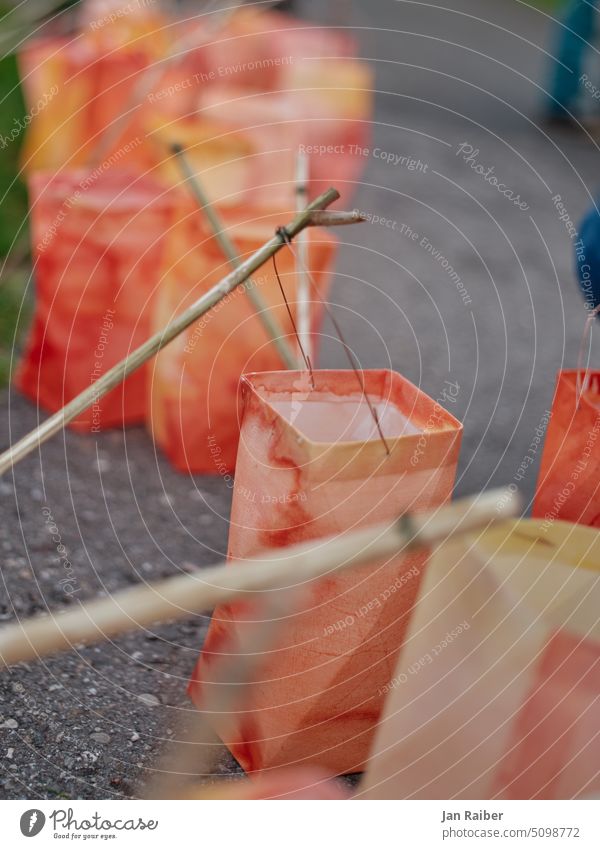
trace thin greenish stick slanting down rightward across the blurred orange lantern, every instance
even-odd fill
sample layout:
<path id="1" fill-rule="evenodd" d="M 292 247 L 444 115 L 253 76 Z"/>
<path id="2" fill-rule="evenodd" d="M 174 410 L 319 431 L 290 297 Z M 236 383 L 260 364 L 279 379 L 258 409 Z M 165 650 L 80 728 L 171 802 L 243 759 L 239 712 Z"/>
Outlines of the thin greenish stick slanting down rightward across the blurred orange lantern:
<path id="1" fill-rule="evenodd" d="M 221 250 L 225 254 L 226 259 L 229 260 L 229 263 L 233 268 L 238 268 L 242 261 L 240 255 L 235 249 L 235 245 L 227 233 L 225 224 L 221 220 L 221 216 L 211 204 L 208 195 L 204 191 L 202 183 L 192 170 L 183 147 L 180 144 L 175 143 L 171 145 L 171 150 L 177 158 L 182 174 L 186 178 L 188 188 L 193 194 L 196 203 L 206 215 L 212 231 L 215 234 L 215 238 L 219 243 Z M 306 204 L 304 204 L 304 206 L 306 206 Z M 300 237 L 301 236 L 299 234 L 298 238 Z M 298 360 L 287 343 L 285 331 L 270 311 L 269 305 L 263 299 L 258 289 L 253 288 L 253 281 L 251 278 L 249 278 L 248 282 L 250 283 L 250 287 L 245 290 L 248 300 L 254 307 L 257 318 L 267 331 L 267 335 L 271 338 L 273 344 L 277 348 L 283 364 L 286 368 L 298 368 Z"/>

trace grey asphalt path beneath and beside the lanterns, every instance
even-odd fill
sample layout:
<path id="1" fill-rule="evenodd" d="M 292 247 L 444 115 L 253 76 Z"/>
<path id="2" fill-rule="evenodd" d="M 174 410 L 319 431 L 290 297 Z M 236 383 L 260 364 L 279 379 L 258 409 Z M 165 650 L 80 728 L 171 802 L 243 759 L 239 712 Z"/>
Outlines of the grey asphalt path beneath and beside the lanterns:
<path id="1" fill-rule="evenodd" d="M 303 7 L 331 22 L 342 5 Z M 562 195 L 577 220 L 596 189 L 598 153 L 537 126 L 547 18 L 516 0 L 451 5 L 370 0 L 346 17 L 377 88 L 355 203 L 395 225 L 344 231 L 335 295 L 363 365 L 391 362 L 434 397 L 445 381 L 459 384 L 457 489 L 468 493 L 513 479 L 556 370 L 575 364 L 582 307 L 552 196 Z M 457 155 L 461 144 L 528 208 L 472 170 Z M 376 149 L 423 167 L 388 163 Z M 322 361 L 345 365 L 333 341 Z M 35 421 L 30 405 L 6 396 L 2 443 Z M 521 482 L 528 497 L 535 475 L 533 467 Z M 78 598 L 207 564 L 225 548 L 228 491 L 172 471 L 141 429 L 97 442 L 55 439 L 0 487 L 0 620 L 72 603 L 44 508 L 67 547 Z M 185 683 L 206 624 L 199 618 L 3 673 L 0 793 L 134 794 L 187 708 Z M 225 751 L 219 764 L 236 770 Z"/>

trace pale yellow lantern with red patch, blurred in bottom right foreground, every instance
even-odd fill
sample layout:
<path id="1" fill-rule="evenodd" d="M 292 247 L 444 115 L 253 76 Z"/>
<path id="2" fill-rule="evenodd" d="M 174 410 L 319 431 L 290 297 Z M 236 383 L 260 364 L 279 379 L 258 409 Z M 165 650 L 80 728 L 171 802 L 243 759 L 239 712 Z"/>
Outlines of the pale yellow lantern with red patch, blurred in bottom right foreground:
<path id="1" fill-rule="evenodd" d="M 600 533 L 539 520 L 429 564 L 361 798 L 600 792 Z"/>

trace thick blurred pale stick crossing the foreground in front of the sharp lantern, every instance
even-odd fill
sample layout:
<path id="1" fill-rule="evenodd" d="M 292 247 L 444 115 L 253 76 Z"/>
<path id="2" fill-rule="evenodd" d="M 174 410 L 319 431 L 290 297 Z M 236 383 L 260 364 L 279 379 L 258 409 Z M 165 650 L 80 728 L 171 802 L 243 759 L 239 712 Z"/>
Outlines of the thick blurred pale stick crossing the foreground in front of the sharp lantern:
<path id="1" fill-rule="evenodd" d="M 386 524 L 123 590 L 82 603 L 77 610 L 34 616 L 0 630 L 0 667 L 157 622 L 188 619 L 240 596 L 280 591 L 402 551 L 429 548 L 453 534 L 514 516 L 519 504 L 509 491 L 491 490 L 430 513 L 407 514 Z"/>

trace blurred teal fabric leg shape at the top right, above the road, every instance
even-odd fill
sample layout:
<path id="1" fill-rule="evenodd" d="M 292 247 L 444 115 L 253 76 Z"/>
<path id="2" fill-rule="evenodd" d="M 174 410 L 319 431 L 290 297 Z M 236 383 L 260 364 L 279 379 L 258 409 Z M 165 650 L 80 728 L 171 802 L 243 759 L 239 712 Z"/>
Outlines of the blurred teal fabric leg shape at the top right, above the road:
<path id="1" fill-rule="evenodd" d="M 548 111 L 566 116 L 577 105 L 585 55 L 594 40 L 599 0 L 570 0 L 554 45 Z M 562 64 L 561 64 L 562 63 Z M 566 67 L 565 67 L 566 66 Z"/>

